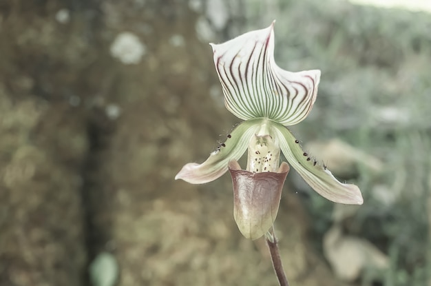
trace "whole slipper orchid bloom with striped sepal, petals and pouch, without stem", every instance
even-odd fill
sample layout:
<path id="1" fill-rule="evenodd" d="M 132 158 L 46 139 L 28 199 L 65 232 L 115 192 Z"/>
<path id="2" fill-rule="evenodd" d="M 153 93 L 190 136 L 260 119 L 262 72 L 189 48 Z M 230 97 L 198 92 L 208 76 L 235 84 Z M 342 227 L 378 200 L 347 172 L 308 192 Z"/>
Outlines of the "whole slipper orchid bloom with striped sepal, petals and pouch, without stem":
<path id="1" fill-rule="evenodd" d="M 303 121 L 317 96 L 320 70 L 288 72 L 275 63 L 273 24 L 219 45 L 211 44 L 227 110 L 244 122 L 202 164 L 188 163 L 176 175 L 193 184 L 219 178 L 229 169 L 235 221 L 246 238 L 273 225 L 288 165 L 317 193 L 335 203 L 362 204 L 356 185 L 340 183 L 302 150 L 286 126 Z M 248 150 L 246 170 L 237 160 Z M 279 166 L 280 165 L 280 166 Z"/>

